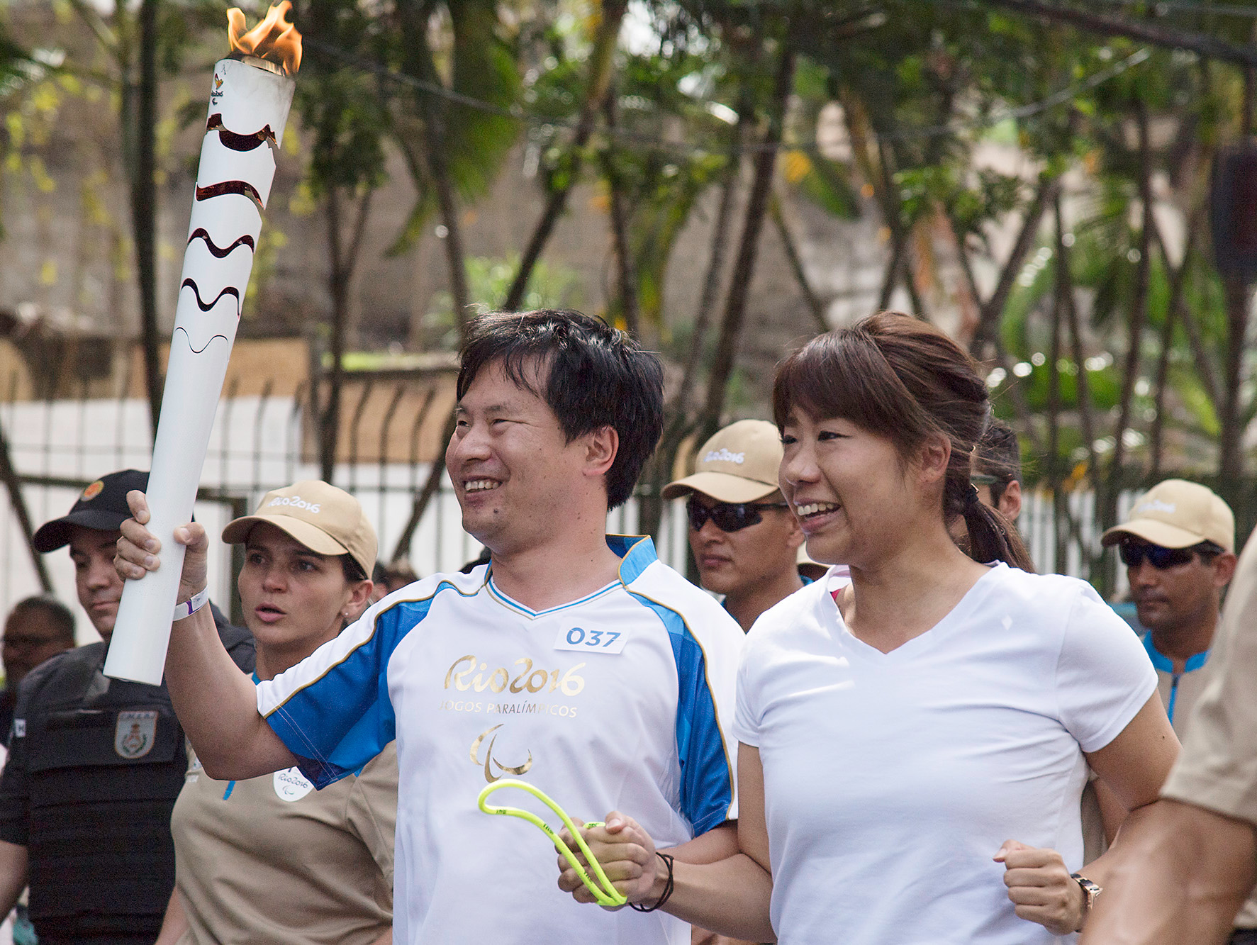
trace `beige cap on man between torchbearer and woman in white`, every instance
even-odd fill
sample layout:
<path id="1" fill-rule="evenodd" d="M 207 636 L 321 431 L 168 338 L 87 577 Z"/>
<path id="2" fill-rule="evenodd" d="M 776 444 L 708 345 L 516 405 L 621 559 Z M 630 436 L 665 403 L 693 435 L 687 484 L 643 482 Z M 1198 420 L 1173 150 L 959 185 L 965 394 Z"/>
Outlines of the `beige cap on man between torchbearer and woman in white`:
<path id="1" fill-rule="evenodd" d="M 665 499 L 703 493 L 716 501 L 754 501 L 777 491 L 782 440 L 767 420 L 739 420 L 703 444 L 694 475 L 664 486 Z"/>

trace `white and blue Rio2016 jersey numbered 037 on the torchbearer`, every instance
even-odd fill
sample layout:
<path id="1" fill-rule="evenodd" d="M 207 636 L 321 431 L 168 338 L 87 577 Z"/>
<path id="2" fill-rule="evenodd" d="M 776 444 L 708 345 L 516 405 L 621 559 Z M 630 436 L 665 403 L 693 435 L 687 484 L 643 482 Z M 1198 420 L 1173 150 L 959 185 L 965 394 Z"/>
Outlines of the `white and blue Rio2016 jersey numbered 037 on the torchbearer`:
<path id="1" fill-rule="evenodd" d="M 579 601 L 537 612 L 489 565 L 434 574 L 258 686 L 317 785 L 396 738 L 397 941 L 689 941 L 664 912 L 576 904 L 535 827 L 476 808 L 485 784 L 520 778 L 577 822 L 632 816 L 660 848 L 737 817 L 727 725 L 744 635 L 649 538 L 607 543 L 618 579 Z M 491 803 L 557 822 L 520 790 Z"/>

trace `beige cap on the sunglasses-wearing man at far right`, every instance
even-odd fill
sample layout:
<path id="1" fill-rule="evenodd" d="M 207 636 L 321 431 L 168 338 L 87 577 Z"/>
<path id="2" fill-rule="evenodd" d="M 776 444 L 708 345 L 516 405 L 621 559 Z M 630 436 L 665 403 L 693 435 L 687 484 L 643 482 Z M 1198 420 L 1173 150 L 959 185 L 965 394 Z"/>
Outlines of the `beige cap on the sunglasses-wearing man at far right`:
<path id="1" fill-rule="evenodd" d="M 1212 489 L 1185 479 L 1166 479 L 1135 500 L 1130 518 L 1100 538 L 1106 548 L 1135 535 L 1161 548 L 1189 548 L 1213 542 L 1236 550 L 1236 516 Z"/>

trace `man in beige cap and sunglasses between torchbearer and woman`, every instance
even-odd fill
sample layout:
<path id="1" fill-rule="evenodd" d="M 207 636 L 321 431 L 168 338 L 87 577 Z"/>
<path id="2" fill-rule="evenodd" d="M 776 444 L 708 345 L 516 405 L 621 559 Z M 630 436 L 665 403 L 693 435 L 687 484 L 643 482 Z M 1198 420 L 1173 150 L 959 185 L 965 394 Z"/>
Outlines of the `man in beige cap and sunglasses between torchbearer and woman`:
<path id="1" fill-rule="evenodd" d="M 803 530 L 777 489 L 782 445 L 764 420 L 739 420 L 699 450 L 694 475 L 669 483 L 665 499 L 686 496 L 690 550 L 699 583 L 724 594 L 743 630 L 803 586 Z"/>

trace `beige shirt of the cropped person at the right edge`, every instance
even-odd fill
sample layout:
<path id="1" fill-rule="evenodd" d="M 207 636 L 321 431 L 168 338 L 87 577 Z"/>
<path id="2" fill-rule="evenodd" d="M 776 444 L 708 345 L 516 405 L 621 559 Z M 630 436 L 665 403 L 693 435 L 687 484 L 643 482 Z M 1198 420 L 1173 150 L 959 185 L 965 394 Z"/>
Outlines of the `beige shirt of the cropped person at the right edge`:
<path id="1" fill-rule="evenodd" d="M 1257 542 L 1239 555 L 1204 682 L 1161 797 L 1257 824 Z M 1257 927 L 1252 900 L 1236 924 Z"/>

